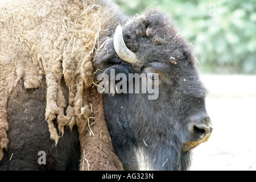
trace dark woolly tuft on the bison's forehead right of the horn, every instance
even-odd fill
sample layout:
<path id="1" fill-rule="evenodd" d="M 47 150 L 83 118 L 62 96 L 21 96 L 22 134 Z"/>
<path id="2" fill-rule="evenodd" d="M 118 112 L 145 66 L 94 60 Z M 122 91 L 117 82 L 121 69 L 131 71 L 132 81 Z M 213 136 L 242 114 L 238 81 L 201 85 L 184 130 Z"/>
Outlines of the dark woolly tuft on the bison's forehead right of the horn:
<path id="1" fill-rule="evenodd" d="M 148 56 L 151 60 L 166 60 L 169 64 L 179 64 L 180 61 L 185 65 L 196 64 L 192 44 L 177 33 L 170 15 L 157 9 L 147 10 L 143 15 L 129 20 L 123 26 L 123 35 L 127 48 L 136 52 L 144 63 L 150 62 L 145 60 Z M 170 57 L 173 58 L 171 61 Z"/>

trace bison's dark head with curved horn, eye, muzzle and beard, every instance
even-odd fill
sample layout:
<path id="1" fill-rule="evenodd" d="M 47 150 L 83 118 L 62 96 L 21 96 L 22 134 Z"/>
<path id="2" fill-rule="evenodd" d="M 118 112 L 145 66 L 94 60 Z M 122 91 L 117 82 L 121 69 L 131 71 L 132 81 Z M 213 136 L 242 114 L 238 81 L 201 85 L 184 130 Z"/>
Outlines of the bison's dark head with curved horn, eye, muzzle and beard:
<path id="1" fill-rule="evenodd" d="M 158 11 L 122 27 L 96 57 L 115 153 L 129 170 L 141 162 L 150 169 L 188 169 L 191 149 L 213 129 L 191 46 Z"/>

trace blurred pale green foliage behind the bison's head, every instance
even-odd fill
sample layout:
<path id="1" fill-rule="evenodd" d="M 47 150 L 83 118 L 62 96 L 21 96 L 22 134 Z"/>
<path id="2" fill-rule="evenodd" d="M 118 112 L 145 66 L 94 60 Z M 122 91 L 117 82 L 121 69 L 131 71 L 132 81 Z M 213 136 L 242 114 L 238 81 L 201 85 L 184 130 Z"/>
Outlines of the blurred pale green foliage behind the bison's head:
<path id="1" fill-rule="evenodd" d="M 146 8 L 171 13 L 204 73 L 256 74 L 256 0 L 115 0 L 133 16 Z"/>

